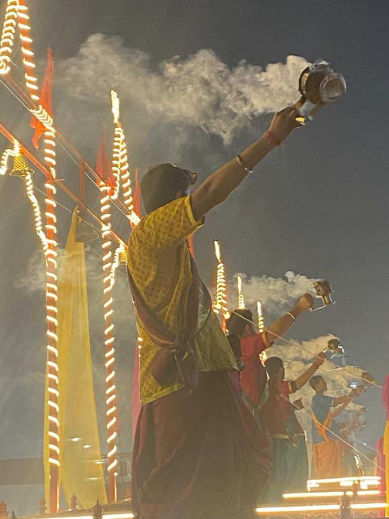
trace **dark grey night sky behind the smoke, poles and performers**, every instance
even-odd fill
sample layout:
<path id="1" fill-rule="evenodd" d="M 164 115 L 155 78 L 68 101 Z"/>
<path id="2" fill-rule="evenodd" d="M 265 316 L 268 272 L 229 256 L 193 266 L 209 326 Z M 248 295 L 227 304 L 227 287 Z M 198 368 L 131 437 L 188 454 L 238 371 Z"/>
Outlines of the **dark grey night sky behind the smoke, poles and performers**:
<path id="1" fill-rule="evenodd" d="M 230 67 L 242 59 L 265 66 L 297 54 L 309 61 L 326 59 L 344 74 L 348 84 L 345 97 L 338 105 L 323 110 L 312 124 L 296 131 L 284 148 L 274 151 L 256 168 L 224 207 L 209 215 L 196 236 L 196 254 L 207 282 L 212 277 L 215 238 L 223 243 L 230 276 L 242 271 L 248 276 L 266 274 L 278 278 L 293 270 L 309 277 L 328 278 L 336 306 L 304 316 L 293 336 L 309 339 L 334 333 L 351 354 L 350 363 L 364 366 L 382 380 L 388 372 L 389 2 L 35 0 L 29 5 L 34 48 L 40 60 L 47 46 L 53 49 L 58 62 L 76 56 L 86 38 L 100 32 L 120 35 L 126 46 L 149 54 L 151 69 L 172 56 L 186 58 L 199 49 L 211 48 Z M 30 135 L 26 129 L 29 117 L 2 85 L 0 88 L 2 122 L 20 135 Z M 104 110 L 102 114 L 97 104 L 87 107 L 67 100 L 59 90 L 54 92 L 58 128 L 91 163 L 95 161 L 101 126 L 109 120 L 108 103 Z M 183 145 L 177 158 L 174 146 L 169 144 L 172 140 L 164 141 L 160 128 L 150 128 L 146 142 L 144 134 L 141 138 L 136 131 L 137 125 L 143 127 L 143 121 L 134 122 L 129 114 L 123 117 L 133 166 L 143 169 L 162 159 L 185 162 L 187 152 L 187 163 L 183 165 L 197 168 L 201 177 L 212 171 L 207 157 L 213 157 L 214 166 L 229 159 L 251 143 L 255 132 L 265 130 L 270 120 L 269 115 L 255 120 L 250 131 L 242 132 L 227 147 L 215 136 L 205 140 L 199 130 L 200 136 L 195 133 L 196 139 Z M 175 131 L 172 129 L 173 135 Z M 7 146 L 4 139 L 0 144 L 1 150 Z M 66 157 L 59 176 L 76 187 L 77 169 Z M 29 258 L 38 254 L 38 242 L 31 230 L 30 208 L 20 181 L 0 181 L 0 412 L 4 418 L 0 455 L 39 455 L 43 430 L 44 301 L 43 294 L 27 290 L 26 283 L 17 286 L 20 278 L 29 279 Z M 89 193 L 92 201 L 92 188 Z M 60 200 L 72 207 L 66 198 Z M 63 244 L 69 215 L 60 214 L 59 241 Z M 125 236 L 126 227 L 118 225 Z M 98 249 L 98 245 L 94 248 Z M 91 280 L 99 283 L 99 263 L 93 263 L 92 253 L 89 257 L 93 265 L 90 268 L 95 268 Z M 123 292 L 127 290 L 124 281 L 119 286 Z M 100 301 L 99 289 L 89 288 L 93 307 Z M 122 298 L 118 380 L 122 442 L 128 447 L 130 442 L 124 432 L 130 436 L 129 366 L 133 351 L 127 343 L 131 344 L 134 330 L 126 323 L 127 314 L 132 312 L 127 294 Z M 91 311 L 94 323 L 99 316 L 93 312 L 96 310 Z M 101 330 L 94 325 L 91 338 L 96 375 L 101 377 L 103 341 Z M 99 395 L 96 398 L 102 404 Z M 380 392 L 372 389 L 361 401 L 368 405 L 370 424 L 363 439 L 373 445 L 383 432 Z M 99 414 L 103 421 L 104 410 L 100 408 Z"/>

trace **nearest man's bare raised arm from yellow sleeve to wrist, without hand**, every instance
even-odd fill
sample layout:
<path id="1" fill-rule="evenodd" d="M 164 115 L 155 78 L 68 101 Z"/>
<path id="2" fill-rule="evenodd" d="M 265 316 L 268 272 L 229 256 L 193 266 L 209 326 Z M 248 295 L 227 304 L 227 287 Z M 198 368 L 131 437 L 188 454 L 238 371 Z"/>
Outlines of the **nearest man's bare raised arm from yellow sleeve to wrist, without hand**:
<path id="1" fill-rule="evenodd" d="M 197 220 L 223 202 L 248 175 L 248 170 L 260 162 L 274 147 L 268 136 L 262 137 L 240 154 L 242 164 L 236 157 L 212 173 L 191 195 L 192 211 Z"/>

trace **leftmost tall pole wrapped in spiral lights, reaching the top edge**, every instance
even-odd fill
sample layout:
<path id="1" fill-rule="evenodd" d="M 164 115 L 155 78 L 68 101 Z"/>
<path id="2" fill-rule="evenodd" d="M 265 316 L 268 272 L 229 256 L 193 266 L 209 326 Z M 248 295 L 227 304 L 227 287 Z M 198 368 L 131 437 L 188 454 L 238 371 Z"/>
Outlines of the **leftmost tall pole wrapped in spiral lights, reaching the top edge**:
<path id="1" fill-rule="evenodd" d="M 10 71 L 11 53 L 18 25 L 21 40 L 21 51 L 24 65 L 24 78 L 27 92 L 33 106 L 39 102 L 38 80 L 35 75 L 36 64 L 32 50 L 31 27 L 29 25 L 28 8 L 24 0 L 7 0 L 2 38 L 0 40 L 0 74 Z M 38 108 L 30 111 L 45 126 L 46 162 L 51 178 L 55 180 L 55 131 L 52 117 L 39 104 Z M 50 465 L 50 512 L 58 511 L 59 506 L 59 407 L 58 407 L 58 349 L 57 349 L 57 219 L 55 217 L 55 187 L 52 181 L 47 181 L 46 187 L 46 320 L 47 320 L 47 386 L 48 386 L 48 434 L 49 434 L 49 465 Z"/>

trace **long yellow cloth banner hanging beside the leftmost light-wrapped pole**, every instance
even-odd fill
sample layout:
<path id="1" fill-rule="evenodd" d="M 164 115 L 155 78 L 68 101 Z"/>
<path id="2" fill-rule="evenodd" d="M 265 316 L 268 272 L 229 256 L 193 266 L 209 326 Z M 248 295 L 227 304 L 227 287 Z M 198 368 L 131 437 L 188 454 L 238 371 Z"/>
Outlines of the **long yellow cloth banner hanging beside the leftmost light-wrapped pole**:
<path id="1" fill-rule="evenodd" d="M 94 400 L 84 243 L 76 242 L 76 210 L 58 279 L 58 376 L 60 483 L 68 506 L 107 502 Z M 47 407 L 47 398 L 46 398 Z M 45 495 L 49 497 L 47 408 L 45 409 Z"/>

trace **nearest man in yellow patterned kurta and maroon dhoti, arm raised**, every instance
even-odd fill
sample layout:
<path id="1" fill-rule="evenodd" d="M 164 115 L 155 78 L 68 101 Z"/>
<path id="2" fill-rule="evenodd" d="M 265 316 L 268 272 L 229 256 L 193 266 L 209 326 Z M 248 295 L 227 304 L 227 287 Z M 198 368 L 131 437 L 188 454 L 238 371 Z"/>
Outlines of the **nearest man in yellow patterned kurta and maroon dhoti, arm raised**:
<path id="1" fill-rule="evenodd" d="M 268 442 L 241 398 L 235 358 L 187 239 L 297 126 L 293 108 L 275 114 L 261 139 L 190 195 L 195 174 L 170 163 L 142 179 L 147 214 L 128 243 L 143 338 L 132 465 L 141 519 L 246 519 L 268 480 Z"/>

